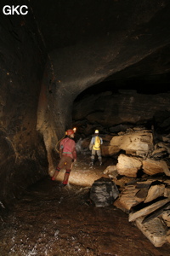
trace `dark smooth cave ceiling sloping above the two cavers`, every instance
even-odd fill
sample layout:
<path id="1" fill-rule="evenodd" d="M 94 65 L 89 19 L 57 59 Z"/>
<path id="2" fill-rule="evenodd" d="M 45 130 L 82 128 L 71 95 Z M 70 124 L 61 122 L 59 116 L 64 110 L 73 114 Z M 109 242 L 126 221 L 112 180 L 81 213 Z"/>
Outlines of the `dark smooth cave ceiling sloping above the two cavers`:
<path id="1" fill-rule="evenodd" d="M 76 95 L 105 79 L 163 79 L 167 88 L 168 0 L 30 3 L 60 87 Z"/>

